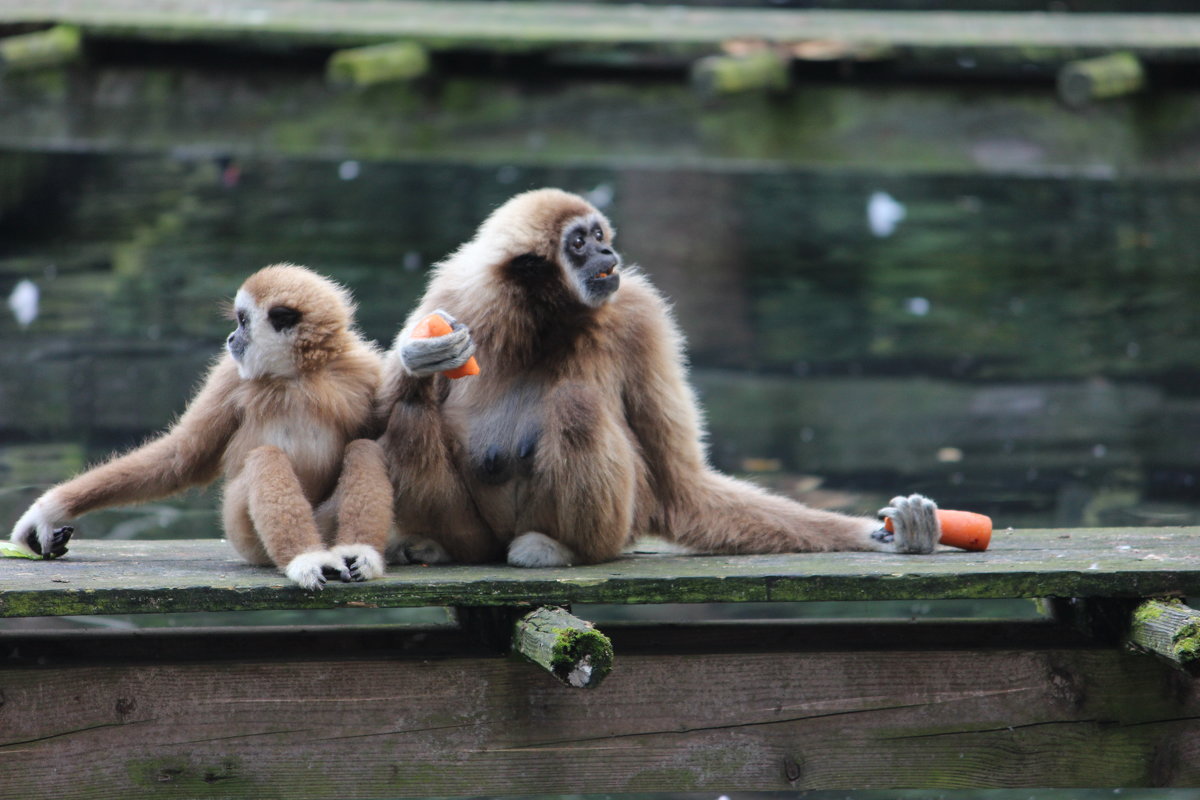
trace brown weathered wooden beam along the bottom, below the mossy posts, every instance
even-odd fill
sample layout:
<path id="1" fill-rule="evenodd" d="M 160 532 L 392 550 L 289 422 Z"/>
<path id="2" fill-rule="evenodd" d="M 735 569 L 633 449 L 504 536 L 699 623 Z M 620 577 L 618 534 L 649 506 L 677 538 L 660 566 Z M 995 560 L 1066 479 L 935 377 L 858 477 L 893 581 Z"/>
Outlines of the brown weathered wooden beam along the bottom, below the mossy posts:
<path id="1" fill-rule="evenodd" d="M 618 642 L 618 648 L 619 648 Z M 1116 650 L 6 667 L 4 796 L 1196 786 L 1200 694 Z"/>

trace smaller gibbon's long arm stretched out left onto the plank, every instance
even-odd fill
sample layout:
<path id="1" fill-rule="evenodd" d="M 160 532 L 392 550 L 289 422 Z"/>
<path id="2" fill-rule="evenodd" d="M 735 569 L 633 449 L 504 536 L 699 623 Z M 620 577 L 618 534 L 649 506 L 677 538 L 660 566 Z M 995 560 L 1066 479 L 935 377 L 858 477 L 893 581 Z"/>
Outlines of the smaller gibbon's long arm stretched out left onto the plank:
<path id="1" fill-rule="evenodd" d="M 230 402 L 238 381 L 236 366 L 223 357 L 167 433 L 46 492 L 17 521 L 12 541 L 38 552 L 29 541 L 36 535 L 40 552 L 49 553 L 54 529 L 67 519 L 211 482 L 221 473 L 222 455 L 238 429 L 238 413 Z"/>

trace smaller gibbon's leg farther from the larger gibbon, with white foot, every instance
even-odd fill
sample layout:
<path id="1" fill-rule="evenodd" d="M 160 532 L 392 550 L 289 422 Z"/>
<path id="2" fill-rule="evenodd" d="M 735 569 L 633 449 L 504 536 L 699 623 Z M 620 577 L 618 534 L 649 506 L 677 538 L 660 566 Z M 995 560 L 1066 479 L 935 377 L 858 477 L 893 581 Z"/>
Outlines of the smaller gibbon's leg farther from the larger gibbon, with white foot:
<path id="1" fill-rule="evenodd" d="M 350 581 L 346 561 L 324 548 L 312 505 L 292 462 L 278 447 L 250 451 L 239 480 L 246 479 L 251 523 L 271 561 L 304 589 L 320 589 L 325 577 Z"/>

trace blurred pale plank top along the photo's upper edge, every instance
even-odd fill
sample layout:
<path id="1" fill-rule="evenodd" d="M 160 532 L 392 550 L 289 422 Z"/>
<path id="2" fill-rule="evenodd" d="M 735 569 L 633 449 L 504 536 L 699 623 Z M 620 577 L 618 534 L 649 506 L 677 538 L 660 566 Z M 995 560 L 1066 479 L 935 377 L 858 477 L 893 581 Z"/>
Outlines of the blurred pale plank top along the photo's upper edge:
<path id="1" fill-rule="evenodd" d="M 900 48 L 1126 49 L 1195 58 L 1198 14 L 780 11 L 682 6 L 436 2 L 431 0 L 0 0 L 0 24 L 60 22 L 92 36 L 292 40 L 428 46 L 714 47 L 728 40 L 836 41 Z"/>

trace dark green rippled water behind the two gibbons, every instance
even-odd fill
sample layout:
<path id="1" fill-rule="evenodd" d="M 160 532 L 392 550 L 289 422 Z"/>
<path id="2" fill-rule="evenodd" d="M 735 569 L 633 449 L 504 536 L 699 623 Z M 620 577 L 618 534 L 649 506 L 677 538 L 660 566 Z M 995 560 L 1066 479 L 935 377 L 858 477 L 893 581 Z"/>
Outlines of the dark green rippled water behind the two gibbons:
<path id="1" fill-rule="evenodd" d="M 23 151 L 0 151 L 0 294 L 38 306 L 0 315 L 0 518 L 166 426 L 257 267 L 338 278 L 388 342 L 432 263 L 546 185 L 590 193 L 673 299 L 722 469 L 854 511 L 920 491 L 998 525 L 1200 522 L 1196 180 Z M 212 536 L 215 504 L 80 530 Z"/>

